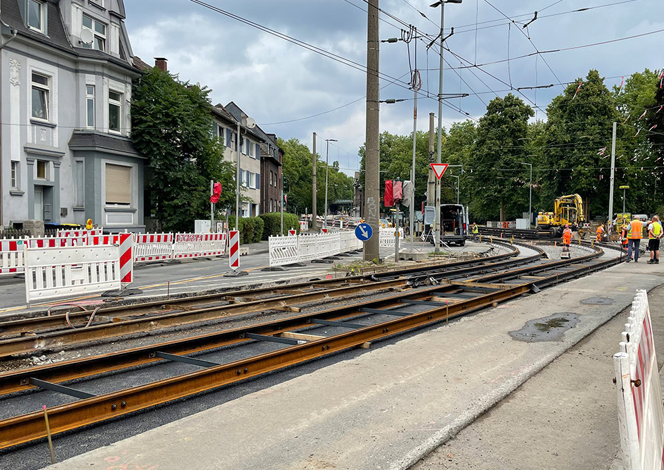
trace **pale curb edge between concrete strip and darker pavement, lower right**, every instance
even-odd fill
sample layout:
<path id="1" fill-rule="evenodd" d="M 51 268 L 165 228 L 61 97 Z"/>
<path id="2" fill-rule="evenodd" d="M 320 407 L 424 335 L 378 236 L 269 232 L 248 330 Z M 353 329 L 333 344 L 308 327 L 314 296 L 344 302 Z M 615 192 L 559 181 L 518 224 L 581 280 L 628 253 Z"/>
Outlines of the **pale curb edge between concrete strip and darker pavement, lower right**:
<path id="1" fill-rule="evenodd" d="M 664 284 L 656 285 L 652 289 L 656 289 L 661 287 Z M 652 290 L 650 289 L 650 290 Z M 650 292 L 648 290 L 648 292 Z M 499 404 L 502 400 L 506 399 L 509 395 L 511 395 L 514 391 L 517 390 L 522 384 L 526 383 L 528 379 L 533 377 L 534 375 L 537 375 L 537 373 L 540 373 L 542 369 L 544 369 L 548 364 L 551 364 L 551 362 L 555 361 L 558 357 L 562 356 L 564 353 L 566 353 L 569 349 L 573 348 L 573 346 L 576 346 L 576 344 L 580 343 L 583 339 L 589 337 L 590 335 L 593 334 L 596 330 L 604 326 L 606 323 L 608 323 L 611 319 L 614 319 L 617 315 L 623 313 L 627 308 L 631 306 L 631 301 L 629 301 L 626 305 L 623 304 L 623 306 L 618 306 L 620 309 L 615 312 L 614 314 L 611 314 L 609 317 L 602 319 L 600 323 L 598 323 L 595 326 L 591 326 L 590 330 L 577 330 L 579 333 L 575 337 L 571 337 L 569 339 L 569 343 L 566 344 L 566 347 L 562 350 L 556 350 L 553 353 L 550 353 L 542 358 L 540 358 L 538 361 L 535 362 L 535 364 L 532 364 L 528 370 L 524 370 L 521 373 L 511 377 L 504 385 L 499 386 L 495 388 L 493 391 L 490 393 L 487 393 L 483 397 L 481 397 L 480 402 L 475 404 L 475 406 L 472 409 L 467 410 L 464 414 L 460 415 L 457 417 L 456 420 L 452 422 L 452 424 L 448 424 L 448 426 L 445 426 L 445 428 L 441 429 L 432 437 L 428 438 L 423 442 L 423 444 L 420 444 L 416 449 L 413 451 L 410 451 L 406 455 L 403 456 L 398 462 L 394 462 L 391 464 L 389 467 L 387 467 L 388 470 L 408 470 L 410 469 L 414 464 L 425 458 L 427 455 L 435 451 L 439 446 L 442 444 L 445 444 L 445 442 L 448 442 L 448 440 L 454 438 L 455 435 L 457 435 L 459 432 L 463 431 L 463 429 L 467 426 L 470 426 L 475 420 L 477 420 L 479 417 L 490 411 L 494 406 Z M 569 330 L 572 332 L 573 330 Z M 616 339 L 616 352 L 618 351 L 618 343 L 619 343 L 619 338 Z M 664 368 L 663 368 L 664 370 Z M 616 460 L 618 460 L 616 458 Z M 619 462 L 622 462 L 620 460 Z M 614 465 L 618 464 L 617 462 L 614 462 Z M 618 467 L 614 469 L 614 467 L 611 467 L 611 470 L 622 470 L 623 467 L 621 464 L 619 464 Z"/>

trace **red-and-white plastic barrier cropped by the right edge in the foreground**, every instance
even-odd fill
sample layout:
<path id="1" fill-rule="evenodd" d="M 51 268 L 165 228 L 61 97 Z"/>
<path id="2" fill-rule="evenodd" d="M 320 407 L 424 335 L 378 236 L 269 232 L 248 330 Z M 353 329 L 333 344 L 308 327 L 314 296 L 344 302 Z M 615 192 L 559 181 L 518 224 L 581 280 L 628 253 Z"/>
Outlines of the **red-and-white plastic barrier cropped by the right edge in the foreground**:
<path id="1" fill-rule="evenodd" d="M 664 407 L 645 290 L 639 290 L 631 304 L 620 353 L 614 355 L 614 368 L 623 467 L 661 469 Z"/>

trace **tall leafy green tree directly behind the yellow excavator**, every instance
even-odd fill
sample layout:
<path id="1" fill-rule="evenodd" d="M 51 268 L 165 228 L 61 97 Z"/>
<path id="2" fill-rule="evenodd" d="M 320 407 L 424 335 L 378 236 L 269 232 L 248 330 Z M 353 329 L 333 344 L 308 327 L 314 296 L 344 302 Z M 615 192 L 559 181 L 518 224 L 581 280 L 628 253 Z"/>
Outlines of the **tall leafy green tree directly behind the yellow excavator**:
<path id="1" fill-rule="evenodd" d="M 605 214 L 609 192 L 606 155 L 610 153 L 612 122 L 618 120 L 618 111 L 604 79 L 598 71 L 589 71 L 585 79 L 577 79 L 554 97 L 546 113 L 549 174 L 544 187 L 548 206 L 553 207 L 553 199 L 558 196 L 576 193 L 584 200 L 587 216 Z M 604 147 L 607 150 L 602 155 Z"/>

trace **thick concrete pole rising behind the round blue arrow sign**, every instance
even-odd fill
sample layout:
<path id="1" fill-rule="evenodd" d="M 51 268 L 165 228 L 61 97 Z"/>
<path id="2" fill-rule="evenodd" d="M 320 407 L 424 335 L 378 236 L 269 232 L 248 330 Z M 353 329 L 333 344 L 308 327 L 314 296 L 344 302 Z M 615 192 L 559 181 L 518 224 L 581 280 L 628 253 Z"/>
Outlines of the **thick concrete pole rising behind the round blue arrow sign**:
<path id="1" fill-rule="evenodd" d="M 365 154 L 365 212 L 366 222 L 374 236 L 364 243 L 362 258 L 380 262 L 379 210 L 380 210 L 380 84 L 378 80 L 378 0 L 367 5 L 367 127 Z"/>

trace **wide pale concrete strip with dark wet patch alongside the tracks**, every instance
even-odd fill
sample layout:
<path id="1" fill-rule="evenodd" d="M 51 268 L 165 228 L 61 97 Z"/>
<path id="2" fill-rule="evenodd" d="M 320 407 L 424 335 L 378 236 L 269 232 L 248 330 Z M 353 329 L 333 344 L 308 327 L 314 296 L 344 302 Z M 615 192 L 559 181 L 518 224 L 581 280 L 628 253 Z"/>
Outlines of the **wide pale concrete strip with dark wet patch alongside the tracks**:
<path id="1" fill-rule="evenodd" d="M 662 283 L 664 265 L 618 265 L 48 468 L 405 469 L 623 311 L 637 288 Z M 582 303 L 594 297 L 612 303 Z M 509 335 L 560 312 L 579 322 L 557 341 Z"/>

